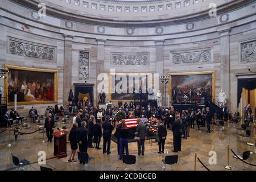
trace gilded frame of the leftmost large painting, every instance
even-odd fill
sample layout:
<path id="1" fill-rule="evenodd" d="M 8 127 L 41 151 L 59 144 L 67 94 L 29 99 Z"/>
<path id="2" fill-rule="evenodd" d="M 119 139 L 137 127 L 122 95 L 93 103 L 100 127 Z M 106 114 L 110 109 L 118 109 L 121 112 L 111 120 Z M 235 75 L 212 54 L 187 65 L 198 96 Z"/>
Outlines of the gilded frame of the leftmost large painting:
<path id="1" fill-rule="evenodd" d="M 52 100 L 35 100 L 31 98 L 32 101 L 17 101 L 17 105 L 34 105 L 34 104 L 56 104 L 58 100 L 58 71 L 54 69 L 40 69 L 40 68 L 30 68 L 30 67 L 19 67 L 14 65 L 5 65 L 5 69 L 9 71 L 26 71 L 31 72 L 31 74 L 42 74 L 42 77 L 44 76 L 43 73 L 52 73 L 51 80 L 53 81 L 53 89 L 51 88 L 51 98 Z M 35 72 L 35 73 L 34 73 Z M 5 93 L 7 94 L 7 105 L 14 105 L 14 102 L 9 101 L 9 74 L 6 73 L 5 78 Z M 47 74 L 50 75 L 50 74 Z M 38 77 L 37 80 L 40 80 L 41 75 Z M 16 78 L 18 79 L 18 78 Z M 32 94 L 31 94 L 32 95 Z"/>

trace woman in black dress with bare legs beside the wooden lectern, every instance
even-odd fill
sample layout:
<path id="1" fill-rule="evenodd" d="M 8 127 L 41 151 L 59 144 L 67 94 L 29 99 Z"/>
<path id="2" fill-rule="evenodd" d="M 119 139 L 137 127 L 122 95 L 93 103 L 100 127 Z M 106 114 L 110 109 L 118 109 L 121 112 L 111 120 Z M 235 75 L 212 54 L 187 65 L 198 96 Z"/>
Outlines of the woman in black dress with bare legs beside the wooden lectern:
<path id="1" fill-rule="evenodd" d="M 77 129 L 77 123 L 73 123 L 73 127 L 69 132 L 68 140 L 70 141 L 71 145 L 71 156 L 68 159 L 68 162 L 76 162 L 75 155 L 77 150 L 77 140 L 76 140 L 76 129 Z M 72 159 L 71 159 L 72 158 Z"/>

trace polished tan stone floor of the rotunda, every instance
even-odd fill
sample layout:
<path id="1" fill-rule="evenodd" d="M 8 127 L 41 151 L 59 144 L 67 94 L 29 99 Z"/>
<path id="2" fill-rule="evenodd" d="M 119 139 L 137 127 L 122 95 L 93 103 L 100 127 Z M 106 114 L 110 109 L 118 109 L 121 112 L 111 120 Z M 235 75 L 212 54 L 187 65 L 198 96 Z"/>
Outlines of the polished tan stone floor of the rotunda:
<path id="1" fill-rule="evenodd" d="M 61 121 L 61 120 L 60 120 Z M 62 127 L 64 124 L 61 122 L 56 122 L 56 127 Z M 66 124 L 67 128 L 71 127 L 70 123 Z M 29 130 L 20 130 L 22 132 L 28 133 L 38 129 L 34 123 L 28 122 L 28 126 L 31 127 Z M 242 154 L 243 151 L 250 150 L 252 154 L 246 162 L 251 164 L 256 164 L 255 147 L 246 146 L 246 142 L 255 142 L 255 129 L 254 125 L 250 125 L 251 136 L 241 137 L 239 134 L 245 133 L 245 131 L 238 131 L 236 127 L 240 127 L 241 123 L 233 125 L 232 123 L 225 123 L 224 127 L 212 125 L 212 133 L 205 133 L 205 128 L 197 131 L 196 129 L 191 129 L 190 137 L 187 140 L 182 140 L 181 152 L 173 153 L 172 142 L 172 132 L 168 130 L 167 140 L 166 140 L 166 154 L 158 154 L 158 144 L 152 140 L 147 140 L 145 142 L 145 155 L 137 155 L 137 143 L 129 143 L 130 155 L 137 156 L 137 170 L 162 170 L 162 159 L 166 155 L 179 155 L 178 163 L 174 166 L 167 166 L 166 170 L 184 170 L 191 171 L 194 170 L 195 164 L 195 153 L 197 157 L 207 166 L 210 170 L 226 170 L 224 167 L 227 165 L 227 145 L 237 154 Z M 10 133 L 10 143 L 12 146 L 7 147 L 6 144 L 9 142 L 9 133 L 5 131 L 0 134 L 0 170 L 17 170 L 14 166 L 11 158 L 11 154 L 17 156 L 19 159 L 27 159 L 32 163 L 32 170 L 40 170 L 40 165 L 38 164 L 38 152 L 46 152 L 46 165 L 45 167 L 52 168 L 56 171 L 59 170 L 131 170 L 135 166 L 128 166 L 122 164 L 122 161 L 118 159 L 117 155 L 117 144 L 111 143 L 110 155 L 102 154 L 102 150 L 96 150 L 95 148 L 88 148 L 89 156 L 93 157 L 93 160 L 89 162 L 88 166 L 79 164 L 79 162 L 68 163 L 68 157 L 57 159 L 53 156 L 53 143 L 42 143 L 43 134 L 36 132 L 34 134 L 20 135 L 18 140 L 14 140 L 14 133 Z M 102 142 L 101 142 L 102 147 Z M 71 151 L 69 144 L 67 144 L 68 155 Z M 217 154 L 217 164 L 210 165 L 209 151 L 215 151 Z M 77 155 L 76 155 L 77 158 Z M 232 170 L 256 170 L 256 167 L 249 166 L 233 158 L 233 154 L 230 151 L 230 166 L 233 167 Z M 22 169 L 22 168 L 21 168 Z M 25 168 L 26 169 L 26 168 Z M 30 170 L 30 167 L 27 168 Z M 197 160 L 196 170 L 206 170 Z"/>

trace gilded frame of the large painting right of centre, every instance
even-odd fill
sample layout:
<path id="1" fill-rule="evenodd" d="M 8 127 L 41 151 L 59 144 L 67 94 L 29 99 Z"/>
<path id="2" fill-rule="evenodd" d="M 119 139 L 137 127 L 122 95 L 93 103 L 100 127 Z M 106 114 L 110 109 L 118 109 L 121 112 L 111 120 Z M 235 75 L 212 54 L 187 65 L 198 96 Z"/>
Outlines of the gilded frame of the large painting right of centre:
<path id="1" fill-rule="evenodd" d="M 215 99 L 215 72 L 214 71 L 203 71 L 203 72 L 181 72 L 181 73 L 168 73 L 169 84 L 169 102 L 172 103 L 172 76 L 192 76 L 192 75 L 211 75 L 212 81 L 212 98 Z"/>

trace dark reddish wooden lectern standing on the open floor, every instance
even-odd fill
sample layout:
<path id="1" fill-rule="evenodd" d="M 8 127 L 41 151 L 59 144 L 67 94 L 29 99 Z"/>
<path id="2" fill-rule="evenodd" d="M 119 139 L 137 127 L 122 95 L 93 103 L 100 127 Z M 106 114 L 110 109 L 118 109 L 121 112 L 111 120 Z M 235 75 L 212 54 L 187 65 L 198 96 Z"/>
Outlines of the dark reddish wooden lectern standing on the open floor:
<path id="1" fill-rule="evenodd" d="M 56 131 L 54 137 L 54 153 L 53 155 L 60 158 L 67 157 L 67 131 Z"/>

